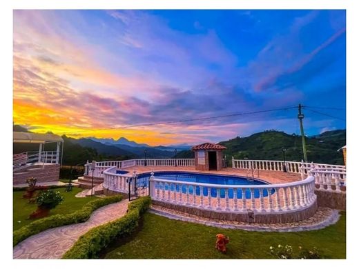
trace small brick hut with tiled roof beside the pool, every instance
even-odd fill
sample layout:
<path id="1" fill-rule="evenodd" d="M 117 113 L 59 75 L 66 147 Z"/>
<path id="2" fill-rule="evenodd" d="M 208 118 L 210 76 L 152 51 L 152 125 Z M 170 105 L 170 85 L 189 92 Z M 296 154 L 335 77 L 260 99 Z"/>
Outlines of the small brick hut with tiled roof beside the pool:
<path id="1" fill-rule="evenodd" d="M 221 170 L 223 167 L 222 150 L 226 147 L 214 143 L 193 146 L 195 152 L 195 169 L 201 171 Z"/>

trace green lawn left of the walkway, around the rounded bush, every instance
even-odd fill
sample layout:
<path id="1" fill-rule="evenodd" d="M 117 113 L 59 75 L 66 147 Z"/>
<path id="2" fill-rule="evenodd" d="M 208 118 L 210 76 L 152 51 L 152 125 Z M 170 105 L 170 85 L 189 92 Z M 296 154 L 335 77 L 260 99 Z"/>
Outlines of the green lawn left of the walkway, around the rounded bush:
<path id="1" fill-rule="evenodd" d="M 75 195 L 78 192 L 81 192 L 82 188 L 72 188 L 71 192 L 65 192 L 66 188 L 56 188 L 53 189 L 55 192 L 59 191 L 64 197 L 64 201 L 61 205 L 57 206 L 55 209 L 50 210 L 50 215 L 55 214 L 67 214 L 78 210 L 84 206 L 85 203 L 97 197 L 85 197 L 85 198 L 76 198 Z M 22 196 L 25 191 L 15 191 L 13 192 L 13 229 L 17 230 L 22 226 L 27 225 L 28 223 L 34 221 L 34 219 L 28 219 L 29 215 L 34 212 L 37 208 L 36 203 L 28 203 L 28 199 L 23 199 Z M 18 222 L 21 221 L 21 222 Z"/>

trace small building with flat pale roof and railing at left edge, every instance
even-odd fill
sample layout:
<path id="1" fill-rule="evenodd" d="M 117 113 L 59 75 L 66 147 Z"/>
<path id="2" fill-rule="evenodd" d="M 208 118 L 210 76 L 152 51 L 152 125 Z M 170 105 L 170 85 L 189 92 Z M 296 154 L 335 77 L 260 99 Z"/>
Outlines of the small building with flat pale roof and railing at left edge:
<path id="1" fill-rule="evenodd" d="M 58 181 L 64 139 L 53 134 L 13 132 L 13 143 L 39 144 L 39 151 L 26 151 L 12 157 L 13 183 L 26 183 L 29 177 L 37 182 Z M 56 143 L 56 151 L 46 151 L 45 145 Z"/>

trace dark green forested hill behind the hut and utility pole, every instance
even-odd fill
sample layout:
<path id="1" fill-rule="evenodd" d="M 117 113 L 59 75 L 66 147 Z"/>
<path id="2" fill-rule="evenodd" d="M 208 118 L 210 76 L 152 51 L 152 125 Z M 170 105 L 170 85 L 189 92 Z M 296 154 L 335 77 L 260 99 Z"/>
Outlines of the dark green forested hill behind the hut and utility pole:
<path id="1" fill-rule="evenodd" d="M 343 165 L 342 152 L 338 149 L 346 145 L 346 130 L 323 132 L 320 135 L 306 137 L 308 161 Z M 287 161 L 303 159 L 302 137 L 288 135 L 285 132 L 268 130 L 249 137 L 236 137 L 220 142 L 227 149 L 227 159 L 282 160 L 282 148 L 286 149 Z M 193 158 L 191 150 L 179 152 L 178 158 Z"/>

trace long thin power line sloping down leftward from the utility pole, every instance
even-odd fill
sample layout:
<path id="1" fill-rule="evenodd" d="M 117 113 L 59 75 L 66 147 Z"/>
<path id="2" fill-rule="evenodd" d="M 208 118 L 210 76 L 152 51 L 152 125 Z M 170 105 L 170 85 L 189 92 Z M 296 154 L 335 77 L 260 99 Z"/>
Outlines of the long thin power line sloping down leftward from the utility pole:
<path id="1" fill-rule="evenodd" d="M 162 125 L 162 124 L 173 124 L 173 123 L 182 123 L 182 122 L 188 122 L 188 121 L 202 121 L 205 119 L 219 119 L 224 117 L 234 117 L 234 116 L 242 116 L 247 114 L 259 114 L 264 112 L 273 112 L 273 111 L 279 111 L 279 110 L 289 110 L 297 108 L 296 106 L 291 106 L 288 108 L 275 108 L 271 110 L 259 110 L 259 111 L 252 111 L 252 112 L 238 112 L 233 114 L 226 114 L 221 116 L 213 116 L 213 117 L 202 117 L 202 118 L 195 118 L 195 119 L 182 119 L 177 121 L 162 121 L 162 122 L 156 122 L 156 123 L 142 123 L 142 124 L 135 124 L 135 125 L 128 125 L 128 126 L 117 126 L 117 127 L 109 127 L 109 128 L 101 128 L 97 130 L 113 130 L 113 129 L 126 129 L 126 128 L 133 128 L 133 127 L 142 127 L 142 126 L 155 126 L 155 125 Z M 76 132 L 87 132 L 88 130 L 78 130 Z M 65 133 L 72 133 L 72 132 L 64 132 Z"/>

